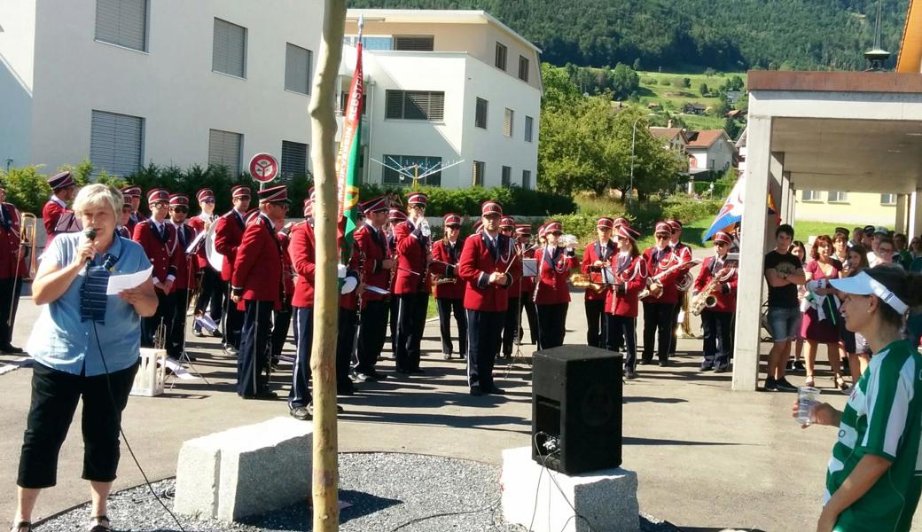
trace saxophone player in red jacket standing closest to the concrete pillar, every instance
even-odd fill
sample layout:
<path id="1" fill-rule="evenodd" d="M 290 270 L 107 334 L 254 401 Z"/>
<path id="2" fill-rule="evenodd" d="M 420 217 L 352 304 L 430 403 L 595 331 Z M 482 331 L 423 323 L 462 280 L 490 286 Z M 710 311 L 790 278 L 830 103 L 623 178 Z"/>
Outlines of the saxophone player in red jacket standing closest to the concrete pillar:
<path id="1" fill-rule="evenodd" d="M 733 313 L 737 309 L 737 267 L 727 261 L 727 252 L 733 239 L 726 232 L 714 235 L 713 256 L 704 259 L 698 277 L 695 278 L 692 294 L 695 300 L 713 296 L 715 304 L 705 306 L 701 311 L 704 329 L 704 360 L 701 371 L 726 372 L 733 352 Z M 702 290 L 707 290 L 703 293 Z"/>

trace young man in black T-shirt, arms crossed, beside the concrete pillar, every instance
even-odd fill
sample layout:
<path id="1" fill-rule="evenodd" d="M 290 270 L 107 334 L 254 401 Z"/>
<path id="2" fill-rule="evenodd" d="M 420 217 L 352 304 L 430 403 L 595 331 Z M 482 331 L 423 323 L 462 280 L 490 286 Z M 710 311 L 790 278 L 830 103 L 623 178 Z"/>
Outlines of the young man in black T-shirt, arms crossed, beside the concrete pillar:
<path id="1" fill-rule="evenodd" d="M 785 378 L 786 359 L 791 341 L 800 328 L 798 285 L 804 284 L 803 265 L 790 253 L 794 228 L 782 224 L 774 231 L 774 250 L 765 255 L 765 280 L 768 282 L 768 326 L 772 349 L 768 353 L 765 390 L 793 392 L 797 388 Z"/>

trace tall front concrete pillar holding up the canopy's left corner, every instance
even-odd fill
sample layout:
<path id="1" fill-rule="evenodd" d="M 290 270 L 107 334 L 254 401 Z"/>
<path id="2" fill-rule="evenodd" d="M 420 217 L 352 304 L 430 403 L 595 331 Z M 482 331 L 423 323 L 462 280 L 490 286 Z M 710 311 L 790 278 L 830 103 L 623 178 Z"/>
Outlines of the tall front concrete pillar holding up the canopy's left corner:
<path id="1" fill-rule="evenodd" d="M 733 389 L 755 391 L 759 376 L 759 329 L 762 314 L 762 264 L 765 256 L 765 216 L 770 169 L 783 167 L 772 154 L 772 119 L 750 115 L 746 183 L 743 187 L 743 231 L 739 243 L 739 291 Z M 777 175 L 781 175 L 780 171 Z M 774 231 L 773 231 L 774 233 Z"/>

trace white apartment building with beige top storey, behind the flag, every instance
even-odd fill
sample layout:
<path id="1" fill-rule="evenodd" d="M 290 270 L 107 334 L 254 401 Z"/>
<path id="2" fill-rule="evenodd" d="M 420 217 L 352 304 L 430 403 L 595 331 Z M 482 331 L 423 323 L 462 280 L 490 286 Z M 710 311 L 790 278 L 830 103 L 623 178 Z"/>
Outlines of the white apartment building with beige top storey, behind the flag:
<path id="1" fill-rule="evenodd" d="M 403 9 L 349 9 L 347 44 L 356 41 L 360 15 L 368 183 L 412 183 L 381 162 L 432 169 L 463 161 L 423 183 L 535 187 L 542 93 L 535 45 L 484 11 Z M 348 46 L 344 92 L 354 67 Z"/>

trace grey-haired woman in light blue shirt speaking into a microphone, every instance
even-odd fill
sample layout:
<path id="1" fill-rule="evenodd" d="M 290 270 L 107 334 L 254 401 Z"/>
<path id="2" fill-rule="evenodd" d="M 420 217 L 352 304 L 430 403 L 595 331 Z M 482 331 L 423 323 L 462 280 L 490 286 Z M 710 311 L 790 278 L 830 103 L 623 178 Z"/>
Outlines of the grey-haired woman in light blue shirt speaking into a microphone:
<path id="1" fill-rule="evenodd" d="M 55 484 L 58 453 L 80 400 L 89 529 L 111 530 L 106 499 L 118 467 L 122 410 L 137 371 L 141 317 L 157 310 L 150 278 L 106 295 L 110 275 L 150 267 L 139 244 L 115 234 L 122 204 L 122 194 L 104 184 L 80 190 L 74 210 L 84 232 L 57 235 L 32 283 L 32 300 L 43 308 L 29 341 L 35 364 L 13 532 L 32 529 L 39 492 Z"/>

